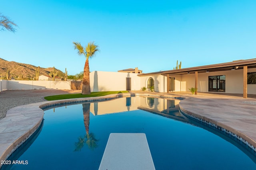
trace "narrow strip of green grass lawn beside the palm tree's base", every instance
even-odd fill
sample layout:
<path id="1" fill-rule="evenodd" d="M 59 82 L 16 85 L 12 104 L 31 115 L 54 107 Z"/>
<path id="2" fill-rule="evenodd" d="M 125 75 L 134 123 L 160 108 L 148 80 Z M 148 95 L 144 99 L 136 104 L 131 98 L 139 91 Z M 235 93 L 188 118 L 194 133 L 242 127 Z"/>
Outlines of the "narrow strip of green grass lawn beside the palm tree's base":
<path id="1" fill-rule="evenodd" d="M 74 98 L 87 98 L 87 97 L 98 97 L 106 96 L 108 94 L 118 94 L 118 93 L 128 93 L 128 91 L 109 91 L 109 92 L 91 92 L 91 94 L 82 95 L 80 93 L 76 94 L 61 94 L 54 96 L 46 96 L 46 100 L 60 100 L 60 99 L 74 99 Z"/>

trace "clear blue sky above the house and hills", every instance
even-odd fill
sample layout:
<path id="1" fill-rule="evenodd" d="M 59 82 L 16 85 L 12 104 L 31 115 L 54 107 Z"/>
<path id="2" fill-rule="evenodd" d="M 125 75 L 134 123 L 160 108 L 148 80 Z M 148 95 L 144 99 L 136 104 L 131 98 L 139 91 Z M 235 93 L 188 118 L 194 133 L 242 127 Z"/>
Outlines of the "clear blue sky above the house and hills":
<path id="1" fill-rule="evenodd" d="M 0 58 L 68 74 L 84 69 L 73 41 L 96 42 L 90 71 L 144 73 L 256 58 L 256 0 L 0 0 L 17 32 Z"/>

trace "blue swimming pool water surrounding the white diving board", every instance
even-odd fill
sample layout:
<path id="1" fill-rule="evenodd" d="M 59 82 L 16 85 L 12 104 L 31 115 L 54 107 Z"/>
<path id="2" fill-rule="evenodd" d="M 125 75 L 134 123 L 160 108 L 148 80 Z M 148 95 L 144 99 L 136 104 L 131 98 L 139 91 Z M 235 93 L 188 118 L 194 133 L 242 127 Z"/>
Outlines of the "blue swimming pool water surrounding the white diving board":
<path id="1" fill-rule="evenodd" d="M 48 109 L 38 136 L 9 158 L 28 164 L 2 169 L 97 170 L 110 133 L 145 133 L 156 170 L 256 169 L 255 157 L 188 123 L 178 102 L 137 97 Z"/>

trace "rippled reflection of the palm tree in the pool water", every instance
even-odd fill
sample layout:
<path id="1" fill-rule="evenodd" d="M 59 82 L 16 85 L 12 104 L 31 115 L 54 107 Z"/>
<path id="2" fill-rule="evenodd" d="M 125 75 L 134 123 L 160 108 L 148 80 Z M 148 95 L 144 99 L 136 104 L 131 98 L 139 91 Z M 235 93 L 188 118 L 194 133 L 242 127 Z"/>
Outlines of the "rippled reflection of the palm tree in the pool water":
<path id="1" fill-rule="evenodd" d="M 94 133 L 89 133 L 89 124 L 90 124 L 90 103 L 89 104 L 82 104 L 83 105 L 83 114 L 84 114 L 84 127 L 86 130 L 86 135 L 84 137 L 78 137 L 78 142 L 75 143 L 75 150 L 80 151 L 84 144 L 86 143 L 89 149 L 94 150 L 98 147 L 98 139 L 95 138 Z"/>

